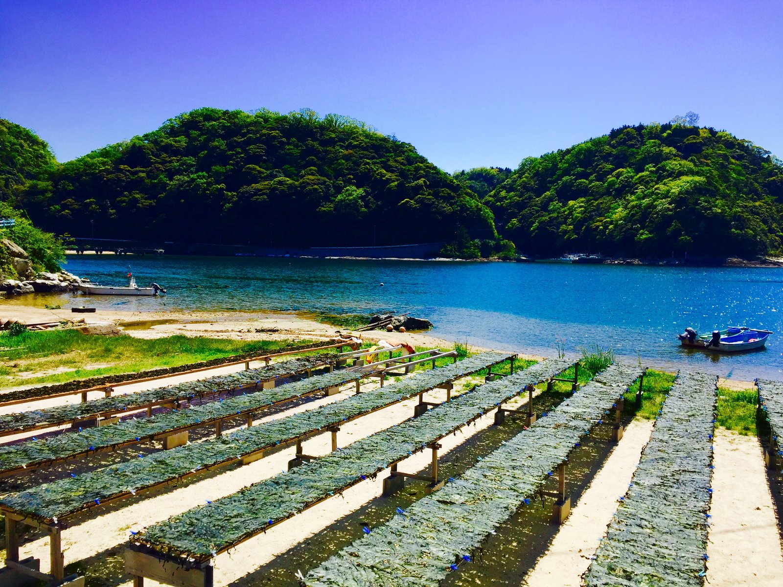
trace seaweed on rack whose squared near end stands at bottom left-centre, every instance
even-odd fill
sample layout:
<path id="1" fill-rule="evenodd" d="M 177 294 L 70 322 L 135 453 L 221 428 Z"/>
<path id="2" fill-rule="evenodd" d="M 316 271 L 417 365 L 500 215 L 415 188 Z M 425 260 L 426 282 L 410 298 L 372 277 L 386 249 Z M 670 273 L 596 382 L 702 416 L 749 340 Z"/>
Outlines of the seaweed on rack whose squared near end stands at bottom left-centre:
<path id="1" fill-rule="evenodd" d="M 334 493 L 378 474 L 428 443 L 458 430 L 525 386 L 561 373 L 570 363 L 550 360 L 476 387 L 348 448 L 314 459 L 288 473 L 253 484 L 146 528 L 133 540 L 175 556 L 204 560 L 258 534 Z"/>

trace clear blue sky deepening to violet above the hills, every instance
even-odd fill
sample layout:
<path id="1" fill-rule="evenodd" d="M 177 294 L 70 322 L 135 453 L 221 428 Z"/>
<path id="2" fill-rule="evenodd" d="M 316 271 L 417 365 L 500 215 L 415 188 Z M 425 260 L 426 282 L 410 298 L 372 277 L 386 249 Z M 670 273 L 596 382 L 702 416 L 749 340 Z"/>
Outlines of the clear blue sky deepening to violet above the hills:
<path id="1" fill-rule="evenodd" d="M 9 2 L 0 117 L 58 160 L 200 106 L 340 113 L 446 171 L 693 110 L 783 157 L 783 2 Z"/>

